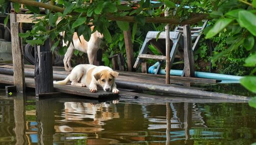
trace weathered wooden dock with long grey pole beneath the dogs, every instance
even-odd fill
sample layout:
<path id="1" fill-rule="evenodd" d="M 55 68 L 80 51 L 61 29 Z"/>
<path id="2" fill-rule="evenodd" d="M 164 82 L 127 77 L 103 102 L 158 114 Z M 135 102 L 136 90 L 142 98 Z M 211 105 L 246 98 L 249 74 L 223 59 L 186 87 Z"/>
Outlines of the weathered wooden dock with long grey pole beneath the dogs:
<path id="1" fill-rule="evenodd" d="M 34 83 L 34 66 L 25 65 L 25 80 L 26 86 L 29 88 L 35 88 Z M 13 85 L 13 67 L 11 65 L 0 65 L 0 83 L 6 83 Z M 69 72 L 66 72 L 62 67 L 53 68 L 54 80 L 62 80 L 67 77 Z M 116 78 L 116 84 L 118 89 L 121 90 L 120 95 L 127 96 L 147 96 L 142 93 L 135 93 L 133 91 L 151 91 L 156 93 L 165 93 L 172 95 L 182 95 L 184 97 L 193 98 L 208 98 L 208 99 L 233 99 L 233 100 L 249 100 L 250 97 L 228 95 L 222 93 L 214 93 L 203 91 L 203 88 L 196 88 L 189 86 L 190 83 L 217 83 L 219 80 L 204 79 L 204 78 L 189 78 L 170 76 L 170 81 L 174 84 L 165 84 L 165 77 L 163 75 L 143 74 L 134 72 L 119 72 L 119 76 Z M 182 85 L 183 84 L 183 85 Z M 73 95 L 87 96 L 92 98 L 104 98 L 104 97 L 118 97 L 118 95 L 104 92 L 99 90 L 97 93 L 91 93 L 87 88 L 81 88 L 78 86 L 58 85 L 54 84 L 54 92 L 61 92 Z M 41 95 L 44 96 L 44 95 Z M 38 95 L 40 97 L 40 94 Z"/>

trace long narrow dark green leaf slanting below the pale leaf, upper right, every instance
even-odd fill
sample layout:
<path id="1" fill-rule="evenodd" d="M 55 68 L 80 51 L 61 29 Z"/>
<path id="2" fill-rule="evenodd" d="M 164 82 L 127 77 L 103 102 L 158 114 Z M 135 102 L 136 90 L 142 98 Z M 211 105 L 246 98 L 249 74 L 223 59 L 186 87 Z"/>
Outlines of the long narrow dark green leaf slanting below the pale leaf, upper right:
<path id="1" fill-rule="evenodd" d="M 211 63 L 214 64 L 220 57 L 222 57 L 224 54 L 231 52 L 234 49 L 237 49 L 241 44 L 244 43 L 244 38 L 238 38 L 237 40 L 234 41 L 232 45 L 230 45 L 226 50 L 216 54 L 214 57 L 211 59 Z"/>

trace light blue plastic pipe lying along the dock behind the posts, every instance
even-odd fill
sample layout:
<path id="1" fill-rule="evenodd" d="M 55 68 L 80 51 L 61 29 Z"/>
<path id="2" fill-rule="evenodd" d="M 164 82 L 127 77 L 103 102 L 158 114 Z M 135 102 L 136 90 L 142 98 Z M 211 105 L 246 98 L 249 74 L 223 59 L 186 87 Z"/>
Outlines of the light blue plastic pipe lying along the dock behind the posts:
<path id="1" fill-rule="evenodd" d="M 159 62 L 148 68 L 148 73 L 155 74 L 156 68 L 159 65 Z M 165 70 L 161 69 L 159 74 L 165 74 Z M 170 75 L 181 76 L 182 70 L 170 70 Z M 199 78 L 209 78 L 209 79 L 221 79 L 221 80 L 240 80 L 242 76 L 234 76 L 227 74 L 218 74 L 218 73 L 207 73 L 207 72 L 195 72 L 195 77 Z"/>

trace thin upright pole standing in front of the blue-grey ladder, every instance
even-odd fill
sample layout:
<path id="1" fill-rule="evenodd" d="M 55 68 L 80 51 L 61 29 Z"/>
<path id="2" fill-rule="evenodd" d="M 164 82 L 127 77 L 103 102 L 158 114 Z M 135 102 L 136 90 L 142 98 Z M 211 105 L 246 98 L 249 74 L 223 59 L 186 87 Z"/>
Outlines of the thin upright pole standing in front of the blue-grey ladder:
<path id="1" fill-rule="evenodd" d="M 166 7 L 166 6 L 165 6 Z M 165 10 L 164 16 L 168 16 L 168 9 Z M 170 37 L 169 37 L 169 24 L 165 26 L 165 49 L 166 49 L 166 66 L 165 66 L 165 83 L 170 84 Z"/>

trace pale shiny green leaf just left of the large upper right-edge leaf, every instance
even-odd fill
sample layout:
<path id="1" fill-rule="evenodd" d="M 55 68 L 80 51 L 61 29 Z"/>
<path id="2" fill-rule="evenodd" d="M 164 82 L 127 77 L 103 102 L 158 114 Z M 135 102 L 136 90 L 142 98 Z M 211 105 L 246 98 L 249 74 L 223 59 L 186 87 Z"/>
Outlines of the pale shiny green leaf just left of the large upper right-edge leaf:
<path id="1" fill-rule="evenodd" d="M 223 18 L 219 19 L 214 27 L 212 27 L 208 33 L 206 34 L 206 39 L 214 37 L 216 34 L 220 33 L 229 23 L 231 23 L 233 19 Z"/>

